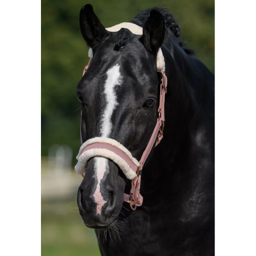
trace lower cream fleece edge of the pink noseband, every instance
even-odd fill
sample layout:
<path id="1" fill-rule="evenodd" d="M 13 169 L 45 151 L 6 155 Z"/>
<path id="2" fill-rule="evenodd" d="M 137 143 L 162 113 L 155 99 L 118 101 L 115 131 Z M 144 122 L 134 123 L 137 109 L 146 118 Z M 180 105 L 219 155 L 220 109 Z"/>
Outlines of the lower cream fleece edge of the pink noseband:
<path id="1" fill-rule="evenodd" d="M 83 152 L 78 158 L 78 163 L 75 166 L 76 172 L 78 174 L 83 174 L 84 170 L 86 169 L 86 164 L 88 160 L 96 156 L 101 156 L 101 157 L 111 159 L 120 167 L 120 169 L 122 170 L 122 172 L 124 173 L 127 179 L 132 180 L 136 177 L 136 173 L 133 171 L 133 169 L 130 167 L 129 164 L 127 164 L 116 153 L 106 150 L 105 148 L 92 148 L 91 150 Z"/>

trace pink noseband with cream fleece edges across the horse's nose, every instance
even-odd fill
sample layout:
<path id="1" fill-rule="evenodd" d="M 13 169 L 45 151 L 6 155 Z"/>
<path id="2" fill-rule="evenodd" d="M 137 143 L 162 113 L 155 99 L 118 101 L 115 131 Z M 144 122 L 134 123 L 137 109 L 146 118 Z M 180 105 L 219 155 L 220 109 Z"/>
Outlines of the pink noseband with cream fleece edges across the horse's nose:
<path id="1" fill-rule="evenodd" d="M 84 174 L 87 162 L 96 156 L 111 159 L 120 167 L 127 179 L 132 180 L 136 177 L 137 168 L 140 166 L 138 160 L 118 141 L 104 137 L 89 139 L 81 145 L 76 157 L 78 160 L 75 166 L 76 172 Z"/>

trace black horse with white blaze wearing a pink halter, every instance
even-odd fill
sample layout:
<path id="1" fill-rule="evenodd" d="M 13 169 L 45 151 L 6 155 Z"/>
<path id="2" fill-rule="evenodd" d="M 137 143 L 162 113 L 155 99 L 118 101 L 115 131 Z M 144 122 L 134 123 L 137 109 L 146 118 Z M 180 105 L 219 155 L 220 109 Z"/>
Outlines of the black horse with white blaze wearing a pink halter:
<path id="1" fill-rule="evenodd" d="M 131 23 L 143 34 L 107 31 L 91 5 L 80 11 L 93 54 L 77 89 L 82 140 L 109 137 L 141 158 L 158 117 L 159 48 L 168 78 L 164 137 L 142 170 L 142 206 L 133 211 L 123 202 L 131 181 L 118 165 L 94 157 L 78 189 L 80 215 L 96 229 L 102 255 L 214 255 L 214 75 L 182 48 L 165 9 L 145 10 Z"/>

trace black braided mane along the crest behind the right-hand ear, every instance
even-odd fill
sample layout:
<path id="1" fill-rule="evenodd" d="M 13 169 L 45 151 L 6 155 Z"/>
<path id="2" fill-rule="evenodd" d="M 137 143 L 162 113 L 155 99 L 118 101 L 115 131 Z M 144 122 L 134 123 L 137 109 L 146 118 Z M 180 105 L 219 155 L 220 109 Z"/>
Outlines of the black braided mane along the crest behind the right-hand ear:
<path id="1" fill-rule="evenodd" d="M 131 20 L 131 23 L 134 23 L 140 27 L 143 27 L 147 18 L 150 16 L 150 12 L 152 10 L 157 10 L 163 15 L 165 26 L 174 33 L 177 39 L 180 39 L 180 26 L 177 23 L 177 20 L 174 18 L 174 16 L 171 13 L 168 12 L 166 8 L 163 8 L 163 7 L 153 7 L 153 8 L 144 10 L 140 12 L 136 17 L 134 17 Z M 179 40 L 180 47 L 183 47 L 185 44 L 186 42 Z M 189 55 L 193 55 L 195 53 L 195 51 L 192 49 L 184 49 L 184 48 L 182 49 Z"/>

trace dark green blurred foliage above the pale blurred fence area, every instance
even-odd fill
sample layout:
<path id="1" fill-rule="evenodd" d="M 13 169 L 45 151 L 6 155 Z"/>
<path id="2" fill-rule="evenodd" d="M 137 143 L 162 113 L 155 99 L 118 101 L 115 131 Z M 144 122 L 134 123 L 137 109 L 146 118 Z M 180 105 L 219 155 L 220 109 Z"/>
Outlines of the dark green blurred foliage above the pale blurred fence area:
<path id="1" fill-rule="evenodd" d="M 80 146 L 80 110 L 75 96 L 88 47 L 78 27 L 79 12 L 87 2 L 43 0 L 41 20 L 41 154 L 52 144 Z M 166 7 L 181 27 L 187 48 L 214 72 L 214 0 L 98 0 L 91 2 L 105 27 L 129 22 L 140 11 Z M 76 154 L 74 154 L 76 155 Z"/>

